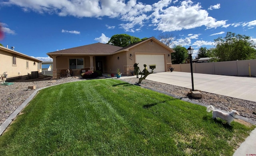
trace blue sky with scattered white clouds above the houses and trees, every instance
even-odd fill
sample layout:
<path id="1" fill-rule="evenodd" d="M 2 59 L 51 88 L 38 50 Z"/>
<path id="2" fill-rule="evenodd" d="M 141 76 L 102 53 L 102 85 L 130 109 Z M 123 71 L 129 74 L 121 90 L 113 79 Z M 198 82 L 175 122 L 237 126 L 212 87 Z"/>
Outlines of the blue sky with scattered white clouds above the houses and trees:
<path id="1" fill-rule="evenodd" d="M 166 33 L 193 47 L 195 57 L 228 31 L 256 43 L 255 6 L 256 0 L 0 0 L 0 43 L 44 61 L 46 53 L 107 43 L 115 34 Z"/>

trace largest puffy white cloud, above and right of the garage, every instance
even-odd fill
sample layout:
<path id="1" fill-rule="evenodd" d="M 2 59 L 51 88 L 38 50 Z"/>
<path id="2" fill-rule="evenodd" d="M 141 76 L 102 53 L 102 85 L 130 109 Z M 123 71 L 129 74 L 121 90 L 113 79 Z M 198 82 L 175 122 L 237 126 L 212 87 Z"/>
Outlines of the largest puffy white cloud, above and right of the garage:
<path id="1" fill-rule="evenodd" d="M 183 1 L 180 6 L 169 6 L 156 3 L 152 13 L 152 23 L 156 30 L 178 31 L 206 26 L 207 29 L 226 25 L 226 20 L 217 21 L 202 10 L 200 3 L 193 4 L 191 0 Z"/>

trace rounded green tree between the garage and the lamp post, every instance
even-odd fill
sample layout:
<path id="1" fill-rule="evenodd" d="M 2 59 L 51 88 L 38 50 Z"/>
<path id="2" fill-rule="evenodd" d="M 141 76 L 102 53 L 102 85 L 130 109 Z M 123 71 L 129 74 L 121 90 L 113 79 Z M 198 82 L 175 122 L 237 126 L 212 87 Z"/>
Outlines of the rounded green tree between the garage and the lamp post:
<path id="1" fill-rule="evenodd" d="M 172 48 L 175 53 L 172 53 L 172 64 L 180 64 L 185 63 L 186 58 L 188 58 L 188 51 L 185 47 L 182 47 L 181 45 L 175 45 Z"/>

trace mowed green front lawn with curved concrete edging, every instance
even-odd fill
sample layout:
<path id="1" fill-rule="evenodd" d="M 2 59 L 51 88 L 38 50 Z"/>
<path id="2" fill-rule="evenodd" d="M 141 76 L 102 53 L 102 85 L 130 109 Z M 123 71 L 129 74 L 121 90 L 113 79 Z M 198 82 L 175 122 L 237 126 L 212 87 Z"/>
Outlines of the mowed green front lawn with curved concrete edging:
<path id="1" fill-rule="evenodd" d="M 255 126 L 120 80 L 41 90 L 0 136 L 0 155 L 232 156 Z"/>

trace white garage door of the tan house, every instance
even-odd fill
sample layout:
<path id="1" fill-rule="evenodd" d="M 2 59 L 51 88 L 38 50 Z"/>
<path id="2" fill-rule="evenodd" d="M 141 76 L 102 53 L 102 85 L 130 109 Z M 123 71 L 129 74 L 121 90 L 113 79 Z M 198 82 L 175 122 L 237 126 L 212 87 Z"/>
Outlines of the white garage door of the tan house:
<path id="1" fill-rule="evenodd" d="M 138 66 L 142 71 L 144 69 L 143 64 L 146 64 L 148 67 L 148 71 L 151 72 L 149 68 L 150 64 L 156 64 L 156 68 L 154 72 L 165 72 L 164 68 L 164 55 L 136 55 L 136 63 L 139 63 Z"/>

